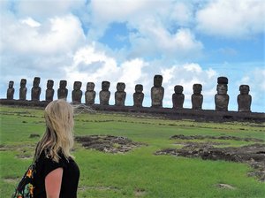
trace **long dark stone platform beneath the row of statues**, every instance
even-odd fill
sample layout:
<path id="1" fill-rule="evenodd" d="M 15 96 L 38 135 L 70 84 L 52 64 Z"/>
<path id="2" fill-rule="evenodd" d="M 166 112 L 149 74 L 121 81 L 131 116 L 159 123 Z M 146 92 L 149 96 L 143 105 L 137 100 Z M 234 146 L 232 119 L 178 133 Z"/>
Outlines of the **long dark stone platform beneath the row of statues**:
<path id="1" fill-rule="evenodd" d="M 49 102 L 47 101 L 22 101 L 0 99 L 1 105 L 15 105 L 27 107 L 44 108 Z M 116 106 L 116 105 L 85 105 L 84 103 L 74 103 L 76 107 L 85 109 L 89 107 L 95 111 L 108 112 L 127 112 L 142 113 L 148 116 L 162 116 L 170 119 L 193 119 L 195 121 L 214 121 L 214 122 L 230 122 L 230 121 L 246 121 L 246 122 L 265 122 L 265 113 L 260 112 L 239 112 L 231 110 L 192 110 L 192 109 L 172 109 L 172 108 L 154 108 L 154 107 L 133 107 L 133 106 Z"/>

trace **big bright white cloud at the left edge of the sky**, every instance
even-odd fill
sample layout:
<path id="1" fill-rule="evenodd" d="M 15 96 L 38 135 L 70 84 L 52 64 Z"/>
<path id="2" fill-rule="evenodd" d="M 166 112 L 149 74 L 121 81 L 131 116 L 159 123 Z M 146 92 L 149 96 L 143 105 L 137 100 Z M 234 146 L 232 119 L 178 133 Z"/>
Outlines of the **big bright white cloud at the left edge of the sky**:
<path id="1" fill-rule="evenodd" d="M 1 36 L 2 50 L 17 53 L 60 54 L 85 41 L 79 19 L 72 15 L 52 18 L 40 24 L 34 19 L 6 19 Z"/>

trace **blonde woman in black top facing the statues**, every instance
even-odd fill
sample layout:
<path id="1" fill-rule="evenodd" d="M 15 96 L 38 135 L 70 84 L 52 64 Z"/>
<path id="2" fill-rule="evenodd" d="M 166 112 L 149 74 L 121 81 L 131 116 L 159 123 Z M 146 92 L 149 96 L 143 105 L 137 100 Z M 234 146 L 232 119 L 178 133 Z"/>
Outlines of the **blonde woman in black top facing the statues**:
<path id="1" fill-rule="evenodd" d="M 73 161 L 73 110 L 64 99 L 45 108 L 46 132 L 36 147 L 34 197 L 75 198 L 79 167 Z"/>

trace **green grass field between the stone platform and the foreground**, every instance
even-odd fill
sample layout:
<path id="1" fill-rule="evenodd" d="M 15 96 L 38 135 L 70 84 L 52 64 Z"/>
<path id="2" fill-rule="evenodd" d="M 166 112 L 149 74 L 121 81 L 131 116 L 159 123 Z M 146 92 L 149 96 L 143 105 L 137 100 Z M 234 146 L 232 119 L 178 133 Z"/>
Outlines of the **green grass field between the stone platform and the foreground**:
<path id="1" fill-rule="evenodd" d="M 0 196 L 11 197 L 20 177 L 32 162 L 34 147 L 45 129 L 43 110 L 0 106 Z M 248 177 L 247 164 L 181 156 L 155 156 L 157 150 L 177 148 L 172 135 L 231 135 L 265 141 L 265 124 L 199 123 L 139 115 L 80 113 L 75 135 L 115 135 L 145 143 L 125 154 L 102 153 L 76 142 L 73 155 L 79 164 L 78 197 L 265 197 L 265 183 Z M 251 141 L 221 141 L 239 147 Z M 225 145 L 223 146 L 225 147 Z M 220 188 L 218 184 L 233 187 Z"/>

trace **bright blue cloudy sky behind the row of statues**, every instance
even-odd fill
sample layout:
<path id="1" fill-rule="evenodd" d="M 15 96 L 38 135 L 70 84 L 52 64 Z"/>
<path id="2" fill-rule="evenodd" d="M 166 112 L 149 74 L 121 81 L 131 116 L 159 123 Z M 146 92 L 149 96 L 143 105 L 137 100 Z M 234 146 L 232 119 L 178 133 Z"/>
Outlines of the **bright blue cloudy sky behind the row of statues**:
<path id="1" fill-rule="evenodd" d="M 203 109 L 214 110 L 216 80 L 229 79 L 229 110 L 238 110 L 239 86 L 250 86 L 252 110 L 265 112 L 264 0 L 0 0 L 0 97 L 9 80 L 34 77 L 95 82 L 96 103 L 102 80 L 110 81 L 110 104 L 117 82 L 125 82 L 126 105 L 136 84 L 150 106 L 155 74 L 163 75 L 164 107 L 172 107 L 175 85 L 184 87 L 191 108 L 193 84 L 202 84 Z M 57 94 L 55 95 L 57 98 Z M 84 96 L 83 96 L 84 102 Z"/>

